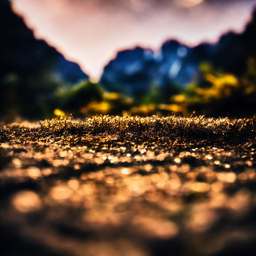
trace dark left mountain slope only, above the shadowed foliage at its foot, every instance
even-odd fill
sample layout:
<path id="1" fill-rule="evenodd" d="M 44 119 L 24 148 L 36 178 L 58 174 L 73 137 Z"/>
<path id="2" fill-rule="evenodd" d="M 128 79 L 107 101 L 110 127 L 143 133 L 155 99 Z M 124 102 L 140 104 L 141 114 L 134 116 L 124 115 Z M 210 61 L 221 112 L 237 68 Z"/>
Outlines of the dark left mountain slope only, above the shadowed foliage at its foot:
<path id="1" fill-rule="evenodd" d="M 44 68 L 65 82 L 88 78 L 76 63 L 67 61 L 45 41 L 35 39 L 22 18 L 12 12 L 8 0 L 0 1 L 0 16 L 1 76 L 9 72 L 27 75 Z"/>

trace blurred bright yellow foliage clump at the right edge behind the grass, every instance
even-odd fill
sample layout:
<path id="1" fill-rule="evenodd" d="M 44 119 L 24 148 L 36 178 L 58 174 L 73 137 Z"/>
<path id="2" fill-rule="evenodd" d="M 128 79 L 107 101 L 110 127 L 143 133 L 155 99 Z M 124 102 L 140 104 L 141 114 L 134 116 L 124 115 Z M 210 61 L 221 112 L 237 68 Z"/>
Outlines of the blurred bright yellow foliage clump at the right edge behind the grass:
<path id="1" fill-rule="evenodd" d="M 246 73 L 241 77 L 215 71 L 209 63 L 200 66 L 196 81 L 171 101 L 185 109 L 184 113 L 205 113 L 207 116 L 253 115 L 256 111 L 255 60 L 248 60 Z"/>

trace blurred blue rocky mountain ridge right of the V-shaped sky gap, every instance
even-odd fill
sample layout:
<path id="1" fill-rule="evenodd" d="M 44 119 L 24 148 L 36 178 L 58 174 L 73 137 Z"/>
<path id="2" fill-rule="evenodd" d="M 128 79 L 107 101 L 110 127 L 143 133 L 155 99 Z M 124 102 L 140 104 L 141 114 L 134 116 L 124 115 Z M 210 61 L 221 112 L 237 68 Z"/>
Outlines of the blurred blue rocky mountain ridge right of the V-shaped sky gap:
<path id="1" fill-rule="evenodd" d="M 121 51 L 105 67 L 101 84 L 110 91 L 135 95 L 152 85 L 185 87 L 197 78 L 198 67 L 209 62 L 217 70 L 241 75 L 249 57 L 255 57 L 256 11 L 244 33 L 227 33 L 216 44 L 189 48 L 177 41 L 167 41 L 159 52 L 136 47 Z"/>

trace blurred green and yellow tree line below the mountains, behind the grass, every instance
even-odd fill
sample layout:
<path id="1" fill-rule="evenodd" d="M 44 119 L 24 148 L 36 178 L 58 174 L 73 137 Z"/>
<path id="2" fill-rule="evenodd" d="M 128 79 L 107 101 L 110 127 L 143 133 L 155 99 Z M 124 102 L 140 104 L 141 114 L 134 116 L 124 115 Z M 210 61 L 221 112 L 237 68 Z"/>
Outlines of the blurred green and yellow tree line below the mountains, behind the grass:
<path id="1" fill-rule="evenodd" d="M 71 89 L 60 87 L 54 95 L 56 108 L 80 117 L 93 114 L 190 115 L 193 111 L 209 117 L 253 116 L 256 113 L 256 59 L 248 59 L 241 77 L 202 63 L 199 75 L 187 87 L 170 84 L 159 88 L 152 84 L 140 98 L 107 92 L 100 84 L 89 80 Z"/>

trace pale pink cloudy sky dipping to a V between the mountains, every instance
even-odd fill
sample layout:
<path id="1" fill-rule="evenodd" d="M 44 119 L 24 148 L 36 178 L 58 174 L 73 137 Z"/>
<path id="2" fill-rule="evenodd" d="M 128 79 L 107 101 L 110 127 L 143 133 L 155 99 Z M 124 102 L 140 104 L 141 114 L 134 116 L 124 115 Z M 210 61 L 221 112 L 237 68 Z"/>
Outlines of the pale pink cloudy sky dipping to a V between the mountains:
<path id="1" fill-rule="evenodd" d="M 159 51 L 170 39 L 189 47 L 241 33 L 256 0 L 10 0 L 38 39 L 79 64 L 91 80 L 118 51 Z"/>

